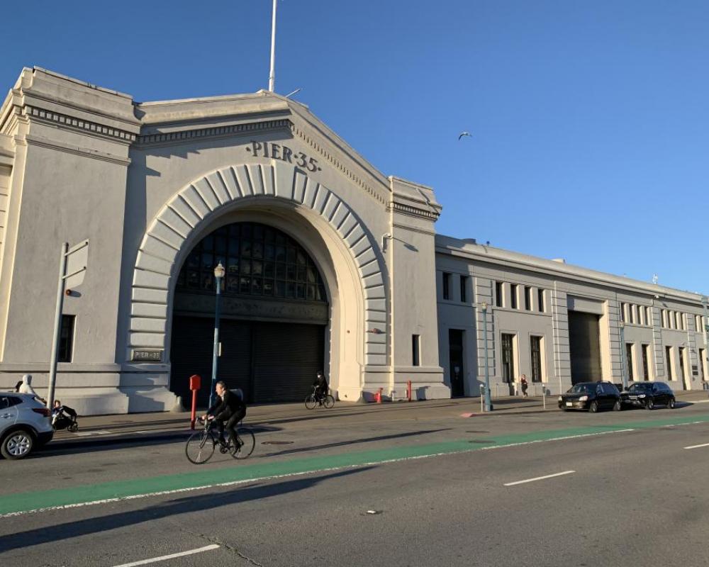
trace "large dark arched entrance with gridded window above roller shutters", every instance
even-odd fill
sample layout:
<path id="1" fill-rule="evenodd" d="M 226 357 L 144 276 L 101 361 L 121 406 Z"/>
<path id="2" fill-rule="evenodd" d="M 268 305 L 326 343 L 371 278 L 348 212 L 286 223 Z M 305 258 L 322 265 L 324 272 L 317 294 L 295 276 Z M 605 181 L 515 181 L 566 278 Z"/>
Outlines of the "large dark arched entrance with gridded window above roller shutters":
<path id="1" fill-rule="evenodd" d="M 215 284 L 221 284 L 218 376 L 250 403 L 302 400 L 324 367 L 329 308 L 318 265 L 291 235 L 262 223 L 223 225 L 203 237 L 179 271 L 172 316 L 173 376 L 211 376 Z M 172 391 L 188 399 L 185 380 Z M 208 384 L 200 391 L 206 404 Z"/>

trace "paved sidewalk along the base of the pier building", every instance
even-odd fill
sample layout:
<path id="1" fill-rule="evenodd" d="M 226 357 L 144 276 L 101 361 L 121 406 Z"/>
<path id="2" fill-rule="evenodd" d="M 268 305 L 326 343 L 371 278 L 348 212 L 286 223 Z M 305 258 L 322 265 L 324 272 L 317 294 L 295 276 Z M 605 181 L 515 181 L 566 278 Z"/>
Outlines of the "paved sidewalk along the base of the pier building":
<path id="1" fill-rule="evenodd" d="M 681 391 L 676 393 L 679 403 L 709 402 L 706 391 Z M 530 414 L 559 411 L 557 396 L 537 398 L 493 398 L 494 415 Z M 543 402 L 546 402 L 546 410 Z M 198 412 L 199 415 L 199 412 Z M 245 423 L 252 427 L 289 424 L 303 426 L 312 420 L 337 418 L 338 420 L 383 422 L 389 420 L 427 420 L 440 417 L 472 417 L 481 415 L 480 398 L 454 398 L 450 400 L 426 400 L 419 402 L 346 403 L 337 402 L 335 408 L 307 410 L 302 403 L 252 405 L 248 408 Z M 199 428 L 199 423 L 196 425 Z M 52 446 L 60 444 L 109 444 L 148 442 L 155 439 L 189 437 L 189 412 L 153 412 L 122 415 L 79 416 L 79 431 L 65 430 L 55 433 Z"/>

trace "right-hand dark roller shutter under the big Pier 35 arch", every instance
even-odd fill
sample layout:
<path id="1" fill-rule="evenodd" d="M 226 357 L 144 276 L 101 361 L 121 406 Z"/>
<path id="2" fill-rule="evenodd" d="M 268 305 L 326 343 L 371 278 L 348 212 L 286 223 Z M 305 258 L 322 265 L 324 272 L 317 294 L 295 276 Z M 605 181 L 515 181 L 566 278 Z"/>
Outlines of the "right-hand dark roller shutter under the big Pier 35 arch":
<path id="1" fill-rule="evenodd" d="M 323 369 L 322 325 L 254 323 L 254 401 L 302 401 Z"/>

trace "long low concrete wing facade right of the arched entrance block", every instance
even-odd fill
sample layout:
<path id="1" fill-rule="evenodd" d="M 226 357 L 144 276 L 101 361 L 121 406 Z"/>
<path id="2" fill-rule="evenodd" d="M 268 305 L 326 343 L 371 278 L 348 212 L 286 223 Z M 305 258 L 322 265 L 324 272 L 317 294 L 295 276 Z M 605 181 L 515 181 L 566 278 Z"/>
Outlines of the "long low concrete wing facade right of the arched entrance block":
<path id="1" fill-rule="evenodd" d="M 484 384 L 482 303 L 489 306 L 488 365 L 493 395 L 520 393 L 520 375 L 532 376 L 530 337 L 540 337 L 542 346 L 540 381 L 530 379 L 530 393 L 540 395 L 543 389 L 557 394 L 571 386 L 571 312 L 598 317 L 601 375 L 596 379 L 622 383 L 625 364 L 629 382 L 666 381 L 676 390 L 709 386 L 707 333 L 703 330 L 706 308 L 696 293 L 442 235 L 436 237 L 436 271 L 441 366 L 450 385 L 448 332 L 464 331 L 465 395 L 479 395 Z M 444 274 L 452 282 L 447 299 Z M 465 301 L 461 301 L 458 285 L 461 276 L 469 286 Z M 503 334 L 513 337 L 511 383 L 503 379 Z"/>

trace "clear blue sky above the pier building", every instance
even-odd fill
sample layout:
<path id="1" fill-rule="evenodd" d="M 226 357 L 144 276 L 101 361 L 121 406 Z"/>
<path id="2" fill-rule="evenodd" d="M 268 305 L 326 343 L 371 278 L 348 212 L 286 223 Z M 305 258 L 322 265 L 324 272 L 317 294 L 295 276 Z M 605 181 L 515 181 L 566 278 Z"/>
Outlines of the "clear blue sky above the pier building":
<path id="1" fill-rule="evenodd" d="M 267 86 L 270 0 L 21 13 L 4 89 L 32 65 L 137 101 Z M 432 186 L 438 232 L 709 293 L 708 2 L 280 0 L 278 16 L 276 90 Z"/>

